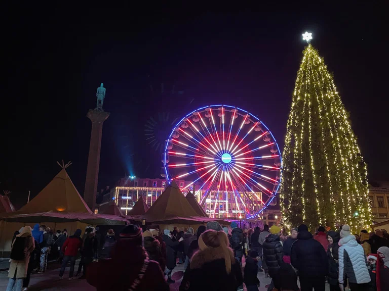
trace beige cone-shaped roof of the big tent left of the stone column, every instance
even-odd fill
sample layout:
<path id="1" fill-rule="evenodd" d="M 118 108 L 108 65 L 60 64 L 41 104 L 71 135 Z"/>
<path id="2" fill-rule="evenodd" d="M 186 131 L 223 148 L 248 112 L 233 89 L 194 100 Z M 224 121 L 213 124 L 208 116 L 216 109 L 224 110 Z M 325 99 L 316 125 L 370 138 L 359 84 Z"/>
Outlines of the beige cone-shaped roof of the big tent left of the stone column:
<path id="1" fill-rule="evenodd" d="M 36 197 L 17 213 L 47 211 L 92 213 L 65 169 L 62 169 Z"/>

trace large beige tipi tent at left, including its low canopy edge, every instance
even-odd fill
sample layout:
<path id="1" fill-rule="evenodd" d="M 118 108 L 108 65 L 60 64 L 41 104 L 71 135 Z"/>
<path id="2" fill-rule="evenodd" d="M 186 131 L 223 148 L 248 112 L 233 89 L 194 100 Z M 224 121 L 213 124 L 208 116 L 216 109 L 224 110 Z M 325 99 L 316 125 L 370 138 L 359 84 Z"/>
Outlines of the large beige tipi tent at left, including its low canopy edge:
<path id="1" fill-rule="evenodd" d="M 74 187 L 65 167 L 50 183 L 20 210 L 0 214 L 0 256 L 9 256 L 11 239 L 22 226 L 45 224 L 52 229 L 66 228 L 72 234 L 87 225 L 125 225 L 122 216 L 93 214 Z"/>

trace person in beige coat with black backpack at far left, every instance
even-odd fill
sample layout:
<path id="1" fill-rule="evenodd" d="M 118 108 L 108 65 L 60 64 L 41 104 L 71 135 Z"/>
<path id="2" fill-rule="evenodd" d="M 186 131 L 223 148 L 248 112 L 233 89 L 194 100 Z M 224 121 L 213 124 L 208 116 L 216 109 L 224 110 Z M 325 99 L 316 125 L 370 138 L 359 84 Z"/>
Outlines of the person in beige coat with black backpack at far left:
<path id="1" fill-rule="evenodd" d="M 30 254 L 34 248 L 35 244 L 31 227 L 24 226 L 22 231 L 16 236 L 11 247 L 11 264 L 8 272 L 7 291 L 21 291 L 23 278 L 27 277 Z"/>

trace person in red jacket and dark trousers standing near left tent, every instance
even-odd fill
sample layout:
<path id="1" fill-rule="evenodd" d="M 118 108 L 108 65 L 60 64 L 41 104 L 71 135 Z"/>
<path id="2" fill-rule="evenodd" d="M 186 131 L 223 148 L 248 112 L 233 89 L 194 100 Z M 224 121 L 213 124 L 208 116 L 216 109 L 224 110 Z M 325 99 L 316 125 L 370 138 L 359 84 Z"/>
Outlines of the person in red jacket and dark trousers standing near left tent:
<path id="1" fill-rule="evenodd" d="M 65 242 L 62 245 L 61 251 L 64 254 L 61 270 L 59 272 L 59 278 L 63 278 L 63 273 L 65 272 L 66 265 L 70 261 L 70 271 L 69 278 L 73 277 L 75 260 L 77 259 L 77 253 L 83 245 L 83 240 L 80 237 L 81 229 L 76 229 L 74 235 L 66 238 Z"/>

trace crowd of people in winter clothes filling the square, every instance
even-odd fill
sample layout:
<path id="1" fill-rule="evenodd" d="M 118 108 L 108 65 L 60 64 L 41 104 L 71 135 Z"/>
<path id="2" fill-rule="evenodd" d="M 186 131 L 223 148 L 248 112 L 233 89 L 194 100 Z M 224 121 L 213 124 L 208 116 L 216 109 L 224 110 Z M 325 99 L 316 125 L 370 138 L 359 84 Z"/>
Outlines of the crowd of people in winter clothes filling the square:
<path id="1" fill-rule="evenodd" d="M 53 253 L 62 263 L 60 279 L 70 263 L 69 279 L 82 273 L 97 290 L 169 290 L 177 264 L 185 270 L 180 291 L 236 291 L 243 283 L 248 291 L 258 290 L 260 272 L 271 278 L 268 291 L 324 291 L 326 282 L 331 291 L 347 285 L 352 291 L 389 290 L 389 235 L 384 230 L 353 235 L 348 225 L 337 231 L 320 226 L 315 235 L 304 224 L 290 235 L 276 225 L 242 229 L 236 222 L 211 221 L 196 231 L 128 225 L 118 238 L 113 229 L 102 237 L 92 226 L 71 236 L 66 229 L 25 226 L 12 240 L 7 291 L 26 289 L 31 272 L 45 272 Z"/>

